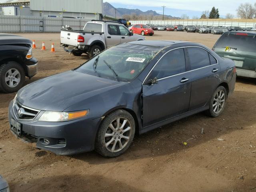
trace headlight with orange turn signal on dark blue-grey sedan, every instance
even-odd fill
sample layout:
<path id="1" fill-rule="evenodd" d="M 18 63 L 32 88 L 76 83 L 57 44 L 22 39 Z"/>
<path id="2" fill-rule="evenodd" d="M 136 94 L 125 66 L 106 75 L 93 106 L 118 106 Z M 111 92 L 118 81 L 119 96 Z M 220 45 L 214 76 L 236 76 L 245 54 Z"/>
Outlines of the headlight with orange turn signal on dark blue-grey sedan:
<path id="1" fill-rule="evenodd" d="M 38 121 L 48 121 L 48 122 L 71 121 L 71 120 L 85 117 L 88 113 L 89 113 L 89 110 L 75 111 L 75 112 L 45 111 L 40 116 Z"/>

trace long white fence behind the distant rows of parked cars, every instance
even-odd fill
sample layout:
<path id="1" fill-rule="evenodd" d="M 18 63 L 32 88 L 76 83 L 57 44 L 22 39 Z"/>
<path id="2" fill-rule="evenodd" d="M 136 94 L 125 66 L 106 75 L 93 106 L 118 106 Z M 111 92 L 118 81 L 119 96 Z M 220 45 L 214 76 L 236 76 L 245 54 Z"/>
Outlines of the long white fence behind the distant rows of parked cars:
<path id="1" fill-rule="evenodd" d="M 256 21 L 256 20 L 254 20 Z M 201 25 L 201 26 L 240 26 L 255 27 L 255 22 L 232 22 L 232 21 L 212 21 L 212 20 L 134 20 L 130 21 L 132 24 L 159 24 L 159 25 Z"/>

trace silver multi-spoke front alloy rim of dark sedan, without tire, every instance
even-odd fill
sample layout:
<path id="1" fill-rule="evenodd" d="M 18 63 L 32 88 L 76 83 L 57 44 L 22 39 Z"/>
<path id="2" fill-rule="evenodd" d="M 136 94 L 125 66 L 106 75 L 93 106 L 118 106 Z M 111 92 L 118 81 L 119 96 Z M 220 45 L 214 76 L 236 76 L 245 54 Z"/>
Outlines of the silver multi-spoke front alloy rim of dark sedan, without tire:
<path id="1" fill-rule="evenodd" d="M 118 152 L 127 145 L 131 134 L 130 121 L 125 117 L 118 117 L 108 125 L 104 136 L 105 147 L 110 152 Z"/>

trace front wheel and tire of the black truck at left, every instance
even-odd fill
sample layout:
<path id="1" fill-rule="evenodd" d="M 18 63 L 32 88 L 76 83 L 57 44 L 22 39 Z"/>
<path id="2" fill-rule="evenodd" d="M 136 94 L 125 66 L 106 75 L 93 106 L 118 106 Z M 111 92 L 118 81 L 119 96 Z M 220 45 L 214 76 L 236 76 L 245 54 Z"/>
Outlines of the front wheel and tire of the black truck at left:
<path id="1" fill-rule="evenodd" d="M 24 83 L 25 71 L 20 64 L 11 61 L 0 65 L 0 91 L 5 93 L 16 92 L 24 86 Z"/>

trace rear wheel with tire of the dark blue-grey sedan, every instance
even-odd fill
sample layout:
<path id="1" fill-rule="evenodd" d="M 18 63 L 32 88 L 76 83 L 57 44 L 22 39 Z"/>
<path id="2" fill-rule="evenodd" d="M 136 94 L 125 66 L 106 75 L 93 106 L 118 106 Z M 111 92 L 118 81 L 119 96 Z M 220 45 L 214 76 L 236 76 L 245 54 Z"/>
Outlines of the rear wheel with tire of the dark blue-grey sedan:
<path id="1" fill-rule="evenodd" d="M 221 93 L 221 94 L 219 94 Z M 224 94 L 224 96 L 222 96 Z M 218 97 L 220 95 L 220 98 Z M 224 98 L 224 101 L 223 102 L 220 102 L 222 101 Z M 219 86 L 213 96 L 212 96 L 212 99 L 210 101 L 210 104 L 209 104 L 209 109 L 206 111 L 206 114 L 208 116 L 211 116 L 211 117 L 218 117 L 220 116 L 220 114 L 222 114 L 222 112 L 224 111 L 224 108 L 226 106 L 226 100 L 227 100 L 227 91 L 226 91 L 226 88 L 224 88 L 223 86 Z M 218 105 L 218 107 L 220 108 L 221 106 L 221 109 L 218 111 L 217 109 L 215 110 L 216 108 L 216 105 L 214 106 L 214 104 Z"/>

